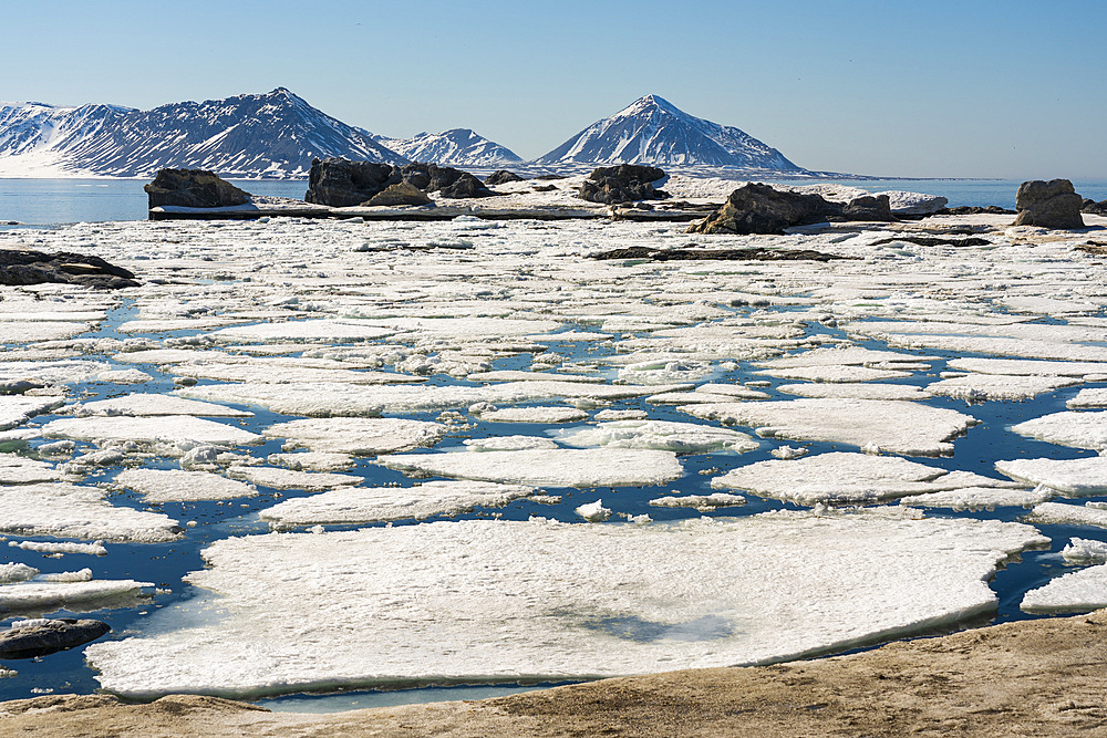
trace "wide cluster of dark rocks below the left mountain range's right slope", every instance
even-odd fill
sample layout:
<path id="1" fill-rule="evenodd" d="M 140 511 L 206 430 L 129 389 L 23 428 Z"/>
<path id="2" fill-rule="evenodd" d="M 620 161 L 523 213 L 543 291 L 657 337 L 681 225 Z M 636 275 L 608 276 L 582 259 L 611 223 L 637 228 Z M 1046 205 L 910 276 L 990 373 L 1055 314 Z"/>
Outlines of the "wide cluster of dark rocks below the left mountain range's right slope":
<path id="1" fill-rule="evenodd" d="M 303 199 L 332 208 L 365 205 L 392 185 L 407 184 L 443 197 L 490 197 L 496 193 L 461 169 L 415 162 L 402 167 L 379 162 L 350 162 L 337 157 L 314 159 Z"/>

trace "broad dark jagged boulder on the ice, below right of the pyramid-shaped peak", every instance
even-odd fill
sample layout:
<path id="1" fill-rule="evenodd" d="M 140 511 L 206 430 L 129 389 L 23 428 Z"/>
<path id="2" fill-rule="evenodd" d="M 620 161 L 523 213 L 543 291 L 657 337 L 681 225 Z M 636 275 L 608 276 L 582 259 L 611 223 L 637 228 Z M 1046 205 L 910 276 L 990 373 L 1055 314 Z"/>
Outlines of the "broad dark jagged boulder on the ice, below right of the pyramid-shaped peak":
<path id="1" fill-rule="evenodd" d="M 687 232 L 780 235 L 785 228 L 810 226 L 841 214 L 841 205 L 818 195 L 788 193 L 749 183 L 731 193 L 722 208 L 692 225 Z"/>

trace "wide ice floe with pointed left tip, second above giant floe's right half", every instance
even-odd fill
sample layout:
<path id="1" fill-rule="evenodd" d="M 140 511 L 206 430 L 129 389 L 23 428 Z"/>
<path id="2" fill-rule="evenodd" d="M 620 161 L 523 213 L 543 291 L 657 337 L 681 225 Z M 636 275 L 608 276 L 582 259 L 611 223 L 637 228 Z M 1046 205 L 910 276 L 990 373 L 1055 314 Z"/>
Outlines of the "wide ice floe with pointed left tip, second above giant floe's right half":
<path id="1" fill-rule="evenodd" d="M 749 426 L 766 438 L 824 440 L 908 456 L 952 454 L 953 444 L 946 441 L 975 424 L 956 410 L 881 399 L 720 403 L 680 409 L 706 420 Z"/>

